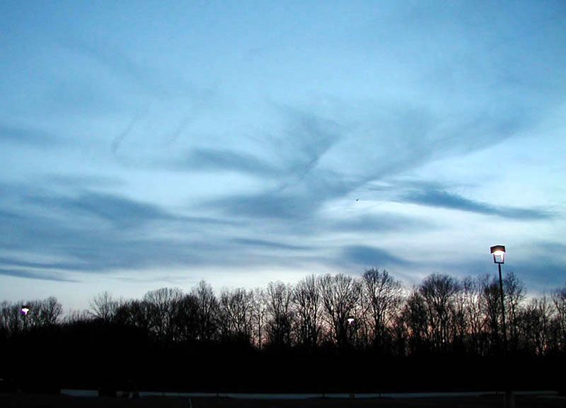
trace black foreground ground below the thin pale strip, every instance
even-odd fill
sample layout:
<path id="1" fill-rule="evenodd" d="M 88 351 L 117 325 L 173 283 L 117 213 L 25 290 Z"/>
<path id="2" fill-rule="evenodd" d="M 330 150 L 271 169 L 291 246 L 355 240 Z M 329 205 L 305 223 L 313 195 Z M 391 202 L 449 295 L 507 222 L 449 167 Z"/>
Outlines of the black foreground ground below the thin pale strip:
<path id="1" fill-rule="evenodd" d="M 379 398 L 379 399 L 333 399 L 313 398 L 309 400 L 245 400 L 215 397 L 143 397 L 127 400 L 112 397 L 69 397 L 65 395 L 0 395 L 1 408 L 400 408 L 441 407 L 476 408 L 503 406 L 503 397 L 445 398 Z M 516 408 L 566 408 L 566 397 L 516 395 Z"/>

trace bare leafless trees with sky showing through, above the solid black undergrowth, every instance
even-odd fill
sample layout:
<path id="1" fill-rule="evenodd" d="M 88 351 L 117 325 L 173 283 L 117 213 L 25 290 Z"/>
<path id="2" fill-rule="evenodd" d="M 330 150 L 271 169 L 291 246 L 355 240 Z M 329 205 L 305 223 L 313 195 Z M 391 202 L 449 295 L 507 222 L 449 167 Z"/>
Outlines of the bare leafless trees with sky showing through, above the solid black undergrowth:
<path id="1" fill-rule="evenodd" d="M 9 337 L 33 327 L 98 321 L 137 327 L 159 342 L 236 342 L 260 350 L 335 346 L 395 356 L 486 356 L 501 351 L 505 336 L 512 353 L 565 353 L 566 286 L 527 299 L 525 284 L 509 272 L 503 290 L 507 333 L 495 277 L 431 274 L 405 288 L 379 269 L 362 276 L 311 275 L 294 285 L 276 281 L 266 288 L 223 289 L 219 296 L 206 281 L 189 293 L 159 288 L 128 301 L 103 292 L 88 310 L 67 317 L 54 297 L 4 301 L 0 333 Z"/>

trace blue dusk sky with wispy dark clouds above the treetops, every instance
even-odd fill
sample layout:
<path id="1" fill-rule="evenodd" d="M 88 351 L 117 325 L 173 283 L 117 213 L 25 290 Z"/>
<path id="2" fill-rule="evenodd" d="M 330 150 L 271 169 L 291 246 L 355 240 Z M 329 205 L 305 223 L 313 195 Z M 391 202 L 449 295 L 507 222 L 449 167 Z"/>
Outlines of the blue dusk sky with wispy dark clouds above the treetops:
<path id="1" fill-rule="evenodd" d="M 0 300 L 566 285 L 566 3 L 2 1 Z"/>

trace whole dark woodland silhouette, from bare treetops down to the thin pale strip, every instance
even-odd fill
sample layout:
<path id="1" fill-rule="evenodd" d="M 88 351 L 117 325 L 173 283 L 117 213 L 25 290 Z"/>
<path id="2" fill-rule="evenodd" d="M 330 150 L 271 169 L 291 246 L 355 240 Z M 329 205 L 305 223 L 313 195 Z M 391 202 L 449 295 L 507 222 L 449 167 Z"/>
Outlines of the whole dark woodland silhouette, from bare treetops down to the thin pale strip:
<path id="1" fill-rule="evenodd" d="M 204 282 L 103 294 L 67 320 L 54 298 L 25 303 L 28 315 L 4 302 L 0 392 L 564 390 L 566 289 L 527 303 L 507 274 L 505 358 L 494 279 L 432 274 L 401 289 L 371 269 L 219 297 Z"/>

